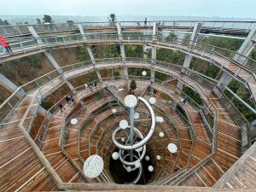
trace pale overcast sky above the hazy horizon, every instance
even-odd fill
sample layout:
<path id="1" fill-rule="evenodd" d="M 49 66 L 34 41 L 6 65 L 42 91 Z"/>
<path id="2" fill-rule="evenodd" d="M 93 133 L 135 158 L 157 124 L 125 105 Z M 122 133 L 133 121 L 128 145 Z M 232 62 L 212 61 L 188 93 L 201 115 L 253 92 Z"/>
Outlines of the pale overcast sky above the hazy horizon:
<path id="1" fill-rule="evenodd" d="M 0 15 L 111 13 L 256 18 L 256 0 L 1 0 Z"/>

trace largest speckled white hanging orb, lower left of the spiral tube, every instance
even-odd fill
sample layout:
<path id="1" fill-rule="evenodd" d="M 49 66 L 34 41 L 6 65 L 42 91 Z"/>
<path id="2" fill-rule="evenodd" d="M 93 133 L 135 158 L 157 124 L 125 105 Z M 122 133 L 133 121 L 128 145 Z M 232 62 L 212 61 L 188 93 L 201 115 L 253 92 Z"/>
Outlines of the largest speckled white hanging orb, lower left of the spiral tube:
<path id="1" fill-rule="evenodd" d="M 84 175 L 86 177 L 98 177 L 103 170 L 104 162 L 98 154 L 93 154 L 84 161 Z"/>

